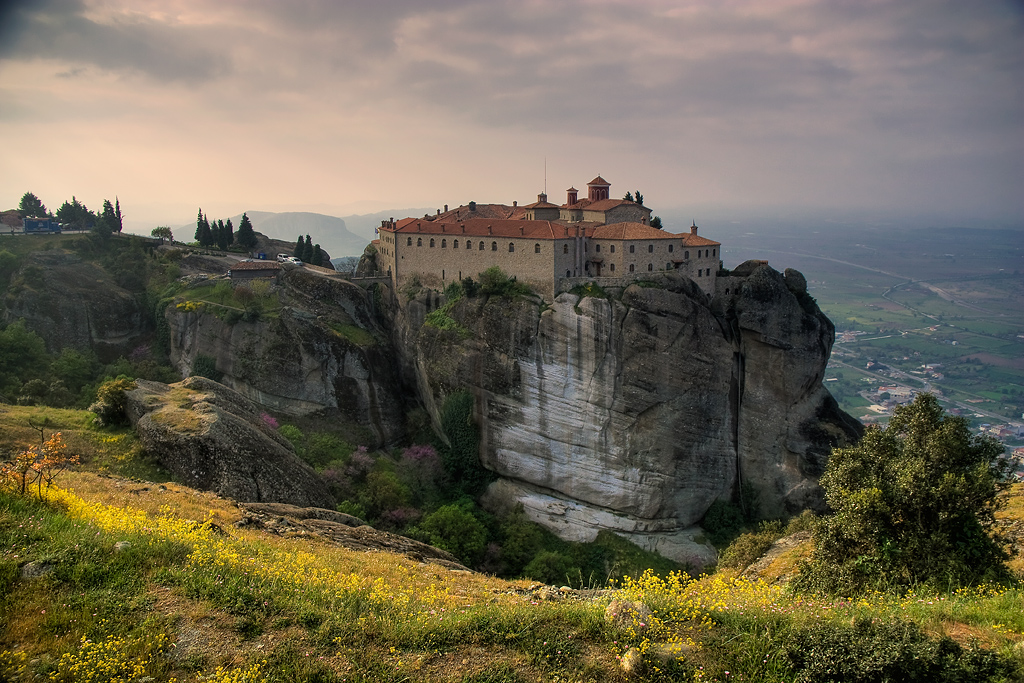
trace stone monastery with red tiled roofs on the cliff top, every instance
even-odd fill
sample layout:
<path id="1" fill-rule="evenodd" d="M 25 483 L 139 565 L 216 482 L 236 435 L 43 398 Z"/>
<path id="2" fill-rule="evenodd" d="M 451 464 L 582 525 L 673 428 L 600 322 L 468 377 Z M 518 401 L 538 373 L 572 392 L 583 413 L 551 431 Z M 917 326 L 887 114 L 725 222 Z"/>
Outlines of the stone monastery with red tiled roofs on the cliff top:
<path id="1" fill-rule="evenodd" d="M 587 187 L 585 199 L 569 187 L 561 206 L 542 194 L 522 207 L 470 202 L 385 220 L 373 243 L 379 267 L 396 288 L 417 279 L 440 290 L 497 265 L 547 299 L 583 282 L 626 284 L 678 270 L 715 294 L 720 243 L 699 237 L 696 225 L 682 233 L 651 227 L 650 209 L 609 199 L 601 176 Z"/>

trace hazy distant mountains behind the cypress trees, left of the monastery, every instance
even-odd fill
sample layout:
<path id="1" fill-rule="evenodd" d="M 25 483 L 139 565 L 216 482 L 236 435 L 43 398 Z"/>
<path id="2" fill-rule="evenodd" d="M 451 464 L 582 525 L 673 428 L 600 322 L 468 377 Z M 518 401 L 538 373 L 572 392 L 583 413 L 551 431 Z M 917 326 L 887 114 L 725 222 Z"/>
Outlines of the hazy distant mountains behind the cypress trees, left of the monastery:
<path id="1" fill-rule="evenodd" d="M 358 256 L 367 248 L 367 244 L 376 239 L 374 228 L 379 227 L 387 218 L 404 218 L 406 216 L 422 216 L 431 209 L 389 209 L 360 215 L 328 216 L 323 213 L 308 211 L 288 211 L 273 213 L 270 211 L 247 211 L 253 228 L 274 240 L 294 243 L 299 236 L 309 236 L 313 244 L 318 244 L 332 258 L 342 256 Z M 210 216 L 210 219 L 220 216 Z M 231 216 L 236 229 L 242 214 Z M 224 218 L 226 220 L 226 218 Z M 175 237 L 188 242 L 191 240 L 196 224 L 182 225 L 174 229 Z M 191 231 L 189 231 L 191 230 Z"/>

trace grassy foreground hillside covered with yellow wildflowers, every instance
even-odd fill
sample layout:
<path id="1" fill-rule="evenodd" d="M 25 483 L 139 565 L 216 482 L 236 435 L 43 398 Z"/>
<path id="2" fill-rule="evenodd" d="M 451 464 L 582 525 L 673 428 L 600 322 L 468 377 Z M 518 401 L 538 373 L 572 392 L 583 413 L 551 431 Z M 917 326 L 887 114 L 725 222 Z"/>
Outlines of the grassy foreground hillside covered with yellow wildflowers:
<path id="1" fill-rule="evenodd" d="M 4 408 L 8 449 L 38 443 L 40 411 Z M 1019 588 L 849 599 L 722 570 L 560 591 L 236 526 L 233 502 L 160 477 L 131 433 L 46 418 L 83 465 L 43 500 L 0 494 L 0 680 L 1024 677 Z"/>

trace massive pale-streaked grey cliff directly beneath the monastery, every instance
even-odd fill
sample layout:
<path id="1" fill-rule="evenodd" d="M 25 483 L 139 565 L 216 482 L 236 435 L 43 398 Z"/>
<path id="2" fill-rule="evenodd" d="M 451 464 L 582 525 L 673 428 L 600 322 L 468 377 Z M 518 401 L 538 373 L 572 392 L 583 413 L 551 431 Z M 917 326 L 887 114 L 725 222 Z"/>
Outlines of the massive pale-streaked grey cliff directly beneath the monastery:
<path id="1" fill-rule="evenodd" d="M 397 330 L 434 416 L 475 395 L 490 507 L 707 564 L 695 525 L 715 500 L 752 484 L 766 517 L 818 506 L 830 446 L 857 434 L 821 385 L 834 327 L 798 275 L 754 264 L 714 300 L 673 275 L 550 306 L 464 299 L 463 336 L 423 325 L 438 302 L 422 297 Z"/>

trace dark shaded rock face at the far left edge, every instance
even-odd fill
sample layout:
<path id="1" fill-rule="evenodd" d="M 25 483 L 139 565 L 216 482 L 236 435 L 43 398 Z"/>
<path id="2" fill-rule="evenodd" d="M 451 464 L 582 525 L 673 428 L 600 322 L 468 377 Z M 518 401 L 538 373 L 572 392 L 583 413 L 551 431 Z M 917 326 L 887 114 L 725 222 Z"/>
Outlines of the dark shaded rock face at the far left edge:
<path id="1" fill-rule="evenodd" d="M 152 332 L 136 297 L 77 254 L 30 254 L 9 291 L 7 321 L 25 318 L 51 353 L 74 348 L 116 357 Z"/>

